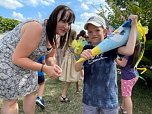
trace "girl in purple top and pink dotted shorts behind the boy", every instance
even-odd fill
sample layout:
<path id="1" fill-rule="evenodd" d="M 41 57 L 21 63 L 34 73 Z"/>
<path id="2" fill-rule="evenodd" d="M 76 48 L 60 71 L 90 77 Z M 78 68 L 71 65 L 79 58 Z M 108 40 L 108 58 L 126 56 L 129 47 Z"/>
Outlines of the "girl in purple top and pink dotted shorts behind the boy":
<path id="1" fill-rule="evenodd" d="M 121 66 L 121 94 L 122 104 L 120 109 L 123 113 L 132 114 L 132 88 L 138 80 L 137 70 L 134 68 L 135 63 L 139 58 L 141 44 L 138 42 L 135 46 L 133 55 L 124 56 L 121 59 L 116 59 L 118 65 Z"/>

